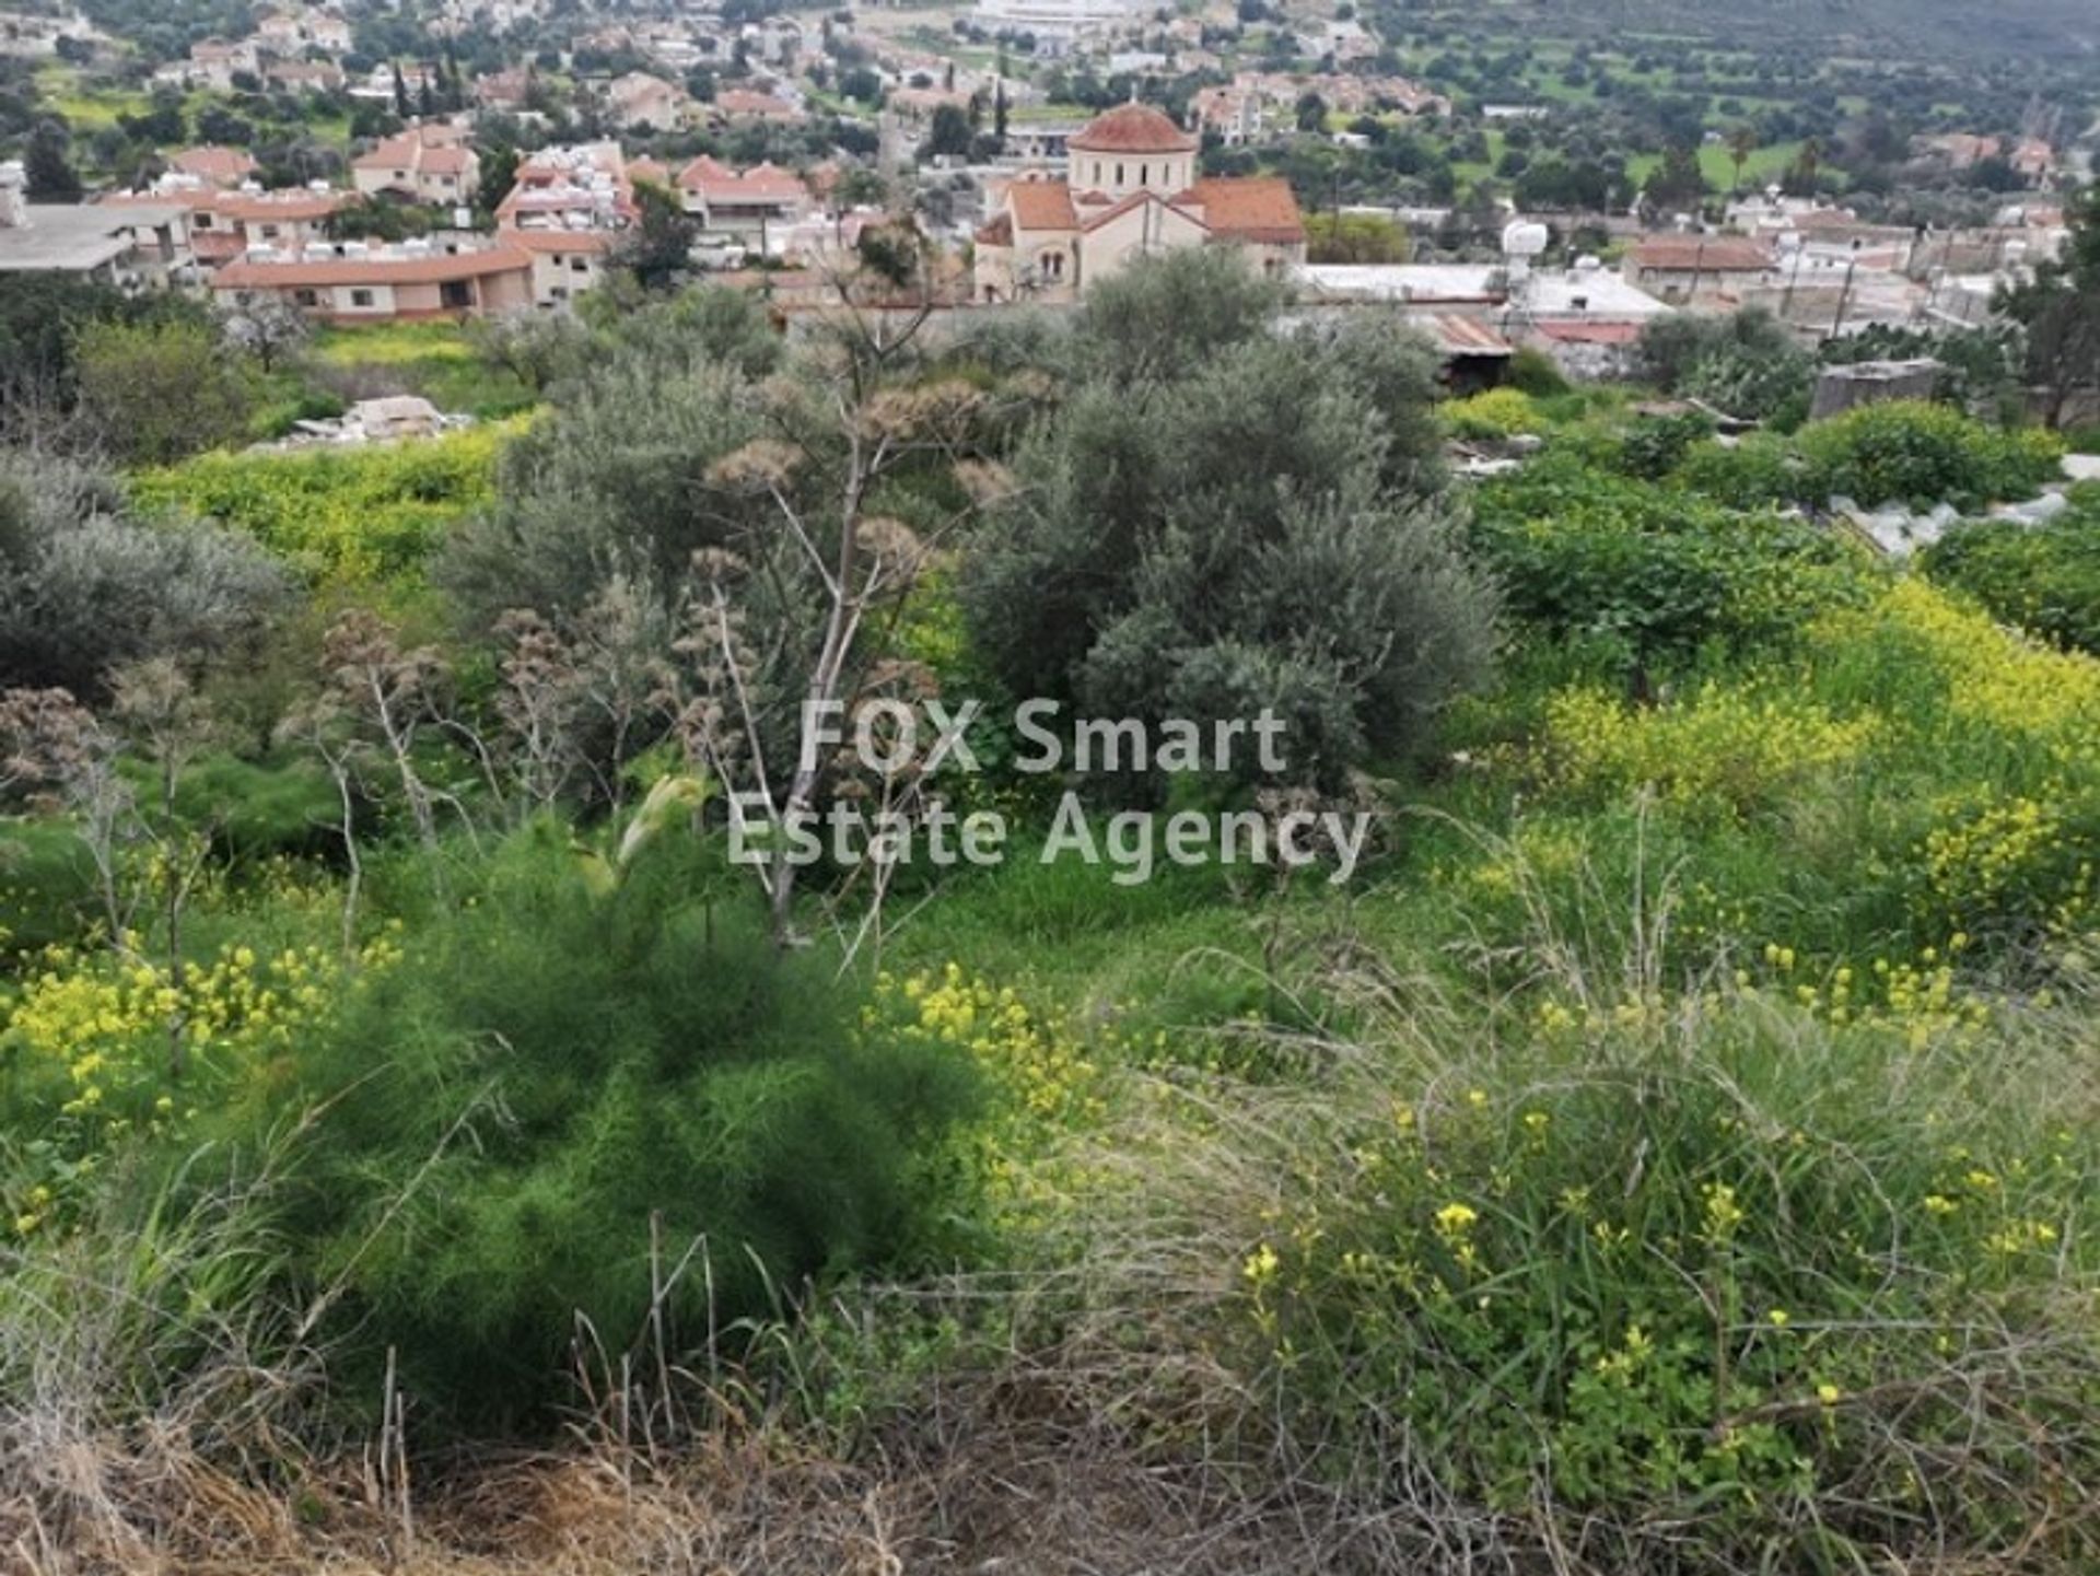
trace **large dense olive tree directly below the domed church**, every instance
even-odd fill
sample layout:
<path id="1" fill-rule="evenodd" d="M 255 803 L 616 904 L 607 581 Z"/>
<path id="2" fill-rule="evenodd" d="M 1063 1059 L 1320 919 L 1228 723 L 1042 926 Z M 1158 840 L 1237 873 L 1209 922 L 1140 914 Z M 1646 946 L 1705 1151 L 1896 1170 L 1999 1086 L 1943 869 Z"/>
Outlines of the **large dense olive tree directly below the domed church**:
<path id="1" fill-rule="evenodd" d="M 1426 346 L 1279 332 L 1264 292 L 1218 254 L 1100 290 L 1079 329 L 1098 371 L 1023 441 L 964 596 L 1014 693 L 1153 722 L 1273 707 L 1285 779 L 1336 787 L 1426 743 L 1489 661 L 1493 606 L 1455 539 Z"/>

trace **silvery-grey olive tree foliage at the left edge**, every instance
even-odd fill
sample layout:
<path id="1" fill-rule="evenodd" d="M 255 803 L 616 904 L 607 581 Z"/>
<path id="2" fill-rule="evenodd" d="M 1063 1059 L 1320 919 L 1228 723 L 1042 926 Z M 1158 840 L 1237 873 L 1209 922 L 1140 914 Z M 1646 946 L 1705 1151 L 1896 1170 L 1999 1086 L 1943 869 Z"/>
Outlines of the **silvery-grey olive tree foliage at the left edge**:
<path id="1" fill-rule="evenodd" d="M 139 520 L 109 474 L 0 449 L 0 688 L 94 699 L 113 667 L 237 646 L 284 592 L 246 537 Z"/>

